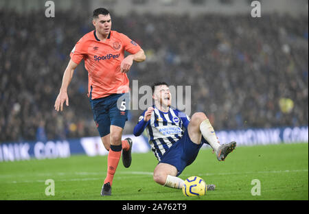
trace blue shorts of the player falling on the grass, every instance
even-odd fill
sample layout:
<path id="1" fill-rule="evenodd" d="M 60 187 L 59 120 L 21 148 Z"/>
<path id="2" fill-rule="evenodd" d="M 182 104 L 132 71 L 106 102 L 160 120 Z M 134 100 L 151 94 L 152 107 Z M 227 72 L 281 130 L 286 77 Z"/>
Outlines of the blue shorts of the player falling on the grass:
<path id="1" fill-rule="evenodd" d="M 159 163 L 168 163 L 176 167 L 179 176 L 183 169 L 192 164 L 198 155 L 198 151 L 201 149 L 203 143 L 208 142 L 202 137 L 200 144 L 193 143 L 190 139 L 189 133 L 185 130 L 185 133 L 179 141 L 176 141 L 168 152 L 163 154 Z"/>

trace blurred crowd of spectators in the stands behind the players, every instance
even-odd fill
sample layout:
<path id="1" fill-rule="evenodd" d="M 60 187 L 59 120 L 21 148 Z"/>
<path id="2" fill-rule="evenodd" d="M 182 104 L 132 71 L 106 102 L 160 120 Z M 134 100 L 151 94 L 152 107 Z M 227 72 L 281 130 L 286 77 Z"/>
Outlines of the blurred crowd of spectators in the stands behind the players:
<path id="1" fill-rule="evenodd" d="M 54 110 L 69 53 L 93 29 L 90 16 L 0 11 L 0 142 L 98 136 L 83 63 L 69 86 L 69 107 Z M 112 19 L 112 29 L 146 52 L 130 82 L 192 86 L 192 113 L 205 112 L 216 130 L 308 126 L 308 16 Z M 127 133 L 140 114 L 130 110 Z"/>

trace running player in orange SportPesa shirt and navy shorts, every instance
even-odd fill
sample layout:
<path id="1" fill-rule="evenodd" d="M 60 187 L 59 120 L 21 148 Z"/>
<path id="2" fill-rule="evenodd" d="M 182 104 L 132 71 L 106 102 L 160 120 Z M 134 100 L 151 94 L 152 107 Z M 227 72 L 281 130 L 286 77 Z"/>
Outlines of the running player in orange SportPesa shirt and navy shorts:
<path id="1" fill-rule="evenodd" d="M 65 69 L 60 92 L 55 102 L 56 111 L 63 104 L 69 106 L 67 88 L 74 69 L 81 60 L 88 71 L 88 96 L 93 110 L 93 119 L 102 143 L 108 150 L 107 175 L 101 195 L 111 195 L 113 176 L 120 156 L 125 167 L 130 167 L 132 140 L 122 141 L 124 124 L 128 120 L 130 102 L 129 80 L 126 73 L 135 62 L 146 60 L 145 53 L 128 36 L 111 30 L 111 14 L 105 8 L 93 11 L 95 30 L 85 34 L 71 51 L 71 60 Z M 130 55 L 124 58 L 124 51 Z"/>

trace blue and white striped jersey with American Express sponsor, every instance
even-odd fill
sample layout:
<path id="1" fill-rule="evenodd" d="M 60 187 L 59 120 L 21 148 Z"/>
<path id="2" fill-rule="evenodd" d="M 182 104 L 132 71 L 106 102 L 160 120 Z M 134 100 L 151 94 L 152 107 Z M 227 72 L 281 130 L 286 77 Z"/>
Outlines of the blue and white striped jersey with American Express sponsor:
<path id="1" fill-rule="evenodd" d="M 183 128 L 187 128 L 190 118 L 177 109 L 170 108 L 168 112 L 161 112 L 155 106 L 151 119 L 144 121 L 146 110 L 139 117 L 139 122 L 134 128 L 135 136 L 139 136 L 144 132 L 145 128 L 148 133 L 148 142 L 150 143 L 152 152 L 160 161 L 163 154 L 183 136 Z"/>

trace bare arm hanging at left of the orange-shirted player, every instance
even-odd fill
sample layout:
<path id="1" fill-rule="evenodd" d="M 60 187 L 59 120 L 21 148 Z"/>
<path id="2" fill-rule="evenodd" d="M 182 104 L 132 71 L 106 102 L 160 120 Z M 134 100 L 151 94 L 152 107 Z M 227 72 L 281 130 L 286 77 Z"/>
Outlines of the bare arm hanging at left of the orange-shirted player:
<path id="1" fill-rule="evenodd" d="M 73 62 L 73 60 L 69 61 L 69 64 L 67 65 L 67 69 L 65 69 L 65 73 L 63 74 L 62 78 L 62 84 L 60 88 L 60 92 L 58 94 L 58 97 L 55 102 L 55 110 L 56 111 L 62 111 L 63 110 L 63 104 L 65 103 L 67 106 L 69 106 L 69 97 L 67 95 L 67 88 L 73 78 L 74 70 L 78 64 Z"/>

